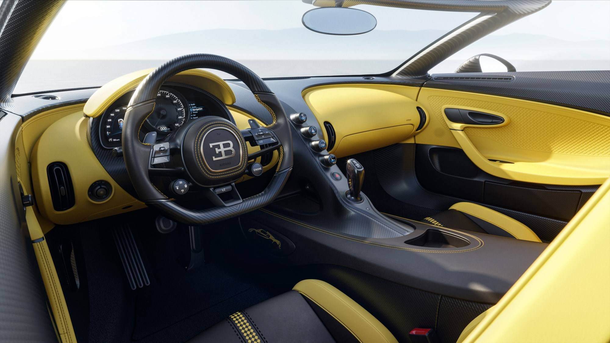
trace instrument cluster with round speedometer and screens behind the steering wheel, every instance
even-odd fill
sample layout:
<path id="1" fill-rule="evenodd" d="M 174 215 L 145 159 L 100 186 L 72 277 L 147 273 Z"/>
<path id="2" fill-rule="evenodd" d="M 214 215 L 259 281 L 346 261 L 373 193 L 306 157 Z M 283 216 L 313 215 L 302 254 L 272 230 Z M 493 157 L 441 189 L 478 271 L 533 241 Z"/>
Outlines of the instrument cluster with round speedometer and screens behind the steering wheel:
<path id="1" fill-rule="evenodd" d="M 121 134 L 127 104 L 134 91 L 128 92 L 112 103 L 99 120 L 99 140 L 104 148 L 121 146 Z M 156 132 L 162 140 L 188 123 L 189 120 L 216 115 L 232 120 L 228 109 L 210 93 L 188 85 L 166 83 L 157 92 L 156 105 L 146 118 L 140 131 L 140 140 L 148 132 Z"/>

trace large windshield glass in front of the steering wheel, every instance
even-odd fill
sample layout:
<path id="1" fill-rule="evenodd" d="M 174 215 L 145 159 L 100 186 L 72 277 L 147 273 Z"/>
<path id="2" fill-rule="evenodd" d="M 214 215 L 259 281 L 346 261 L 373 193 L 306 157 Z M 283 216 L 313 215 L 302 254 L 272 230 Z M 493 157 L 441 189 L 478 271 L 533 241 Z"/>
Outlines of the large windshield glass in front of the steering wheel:
<path id="1" fill-rule="evenodd" d="M 301 17 L 314 8 L 300 0 L 68 1 L 13 93 L 101 86 L 198 52 L 262 78 L 381 74 L 476 15 L 358 5 L 377 27 L 342 36 L 306 29 Z"/>

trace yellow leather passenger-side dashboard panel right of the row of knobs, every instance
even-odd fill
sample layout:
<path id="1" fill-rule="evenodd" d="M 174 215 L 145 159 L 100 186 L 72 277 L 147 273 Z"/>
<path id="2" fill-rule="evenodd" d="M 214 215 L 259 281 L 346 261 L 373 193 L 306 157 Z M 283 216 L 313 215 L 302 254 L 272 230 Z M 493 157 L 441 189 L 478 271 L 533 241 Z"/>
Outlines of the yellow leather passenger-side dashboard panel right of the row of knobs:
<path id="1" fill-rule="evenodd" d="M 337 84 L 307 88 L 303 99 L 321 127 L 331 123 L 337 157 L 362 153 L 412 137 L 420 125 L 415 98 L 419 87 L 383 84 Z M 329 137 L 323 129 L 326 142 Z"/>

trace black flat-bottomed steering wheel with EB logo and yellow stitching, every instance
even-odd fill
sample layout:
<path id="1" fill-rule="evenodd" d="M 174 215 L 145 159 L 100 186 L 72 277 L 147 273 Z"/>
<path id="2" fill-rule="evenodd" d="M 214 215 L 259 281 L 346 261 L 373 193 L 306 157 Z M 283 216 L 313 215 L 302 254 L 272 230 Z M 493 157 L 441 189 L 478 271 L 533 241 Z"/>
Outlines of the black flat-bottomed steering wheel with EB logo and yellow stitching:
<path id="1" fill-rule="evenodd" d="M 270 112 L 273 123 L 260 128 L 251 120 L 251 128 L 240 131 L 229 120 L 208 116 L 187 121 L 187 125 L 179 127 L 175 134 L 168 135 L 167 142 L 147 142 L 146 139 L 142 142 L 140 129 L 154 111 L 157 92 L 163 82 L 174 74 L 195 68 L 217 69 L 239 78 Z M 262 142 L 269 142 L 269 137 L 271 142 L 276 142 L 248 154 L 246 142 L 267 144 Z M 129 101 L 121 140 L 127 173 L 140 200 L 187 224 L 204 225 L 266 206 L 278 196 L 292 170 L 292 134 L 278 98 L 253 71 L 239 62 L 217 55 L 177 57 L 148 74 Z M 278 168 L 273 178 L 262 192 L 242 200 L 233 182 L 243 176 L 248 161 L 273 150 L 279 150 Z M 167 160 L 170 162 L 165 165 L 172 168 L 158 168 L 158 161 Z M 197 211 L 187 209 L 157 189 L 149 174 L 187 178 L 204 190 L 215 207 Z M 181 186 L 185 185 L 176 186 L 174 182 L 172 187 Z"/>

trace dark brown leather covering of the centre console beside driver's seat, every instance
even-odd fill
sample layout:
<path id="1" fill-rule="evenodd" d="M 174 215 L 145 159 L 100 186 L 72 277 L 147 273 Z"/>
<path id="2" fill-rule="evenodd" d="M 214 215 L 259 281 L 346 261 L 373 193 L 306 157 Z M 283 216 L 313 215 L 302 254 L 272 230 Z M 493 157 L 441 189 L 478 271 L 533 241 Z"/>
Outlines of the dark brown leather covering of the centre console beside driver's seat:
<path id="1" fill-rule="evenodd" d="M 249 221 L 265 223 L 295 244 L 295 251 L 282 259 L 286 264 L 342 265 L 405 286 L 483 303 L 497 302 L 547 247 L 471 233 L 483 240 L 483 246 L 466 252 L 425 253 L 346 239 L 262 211 L 243 215 L 242 222 Z M 507 254 L 511 259 L 506 259 Z"/>

